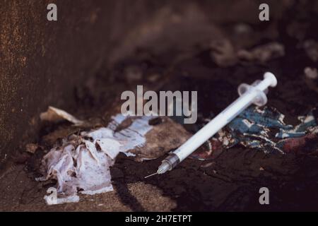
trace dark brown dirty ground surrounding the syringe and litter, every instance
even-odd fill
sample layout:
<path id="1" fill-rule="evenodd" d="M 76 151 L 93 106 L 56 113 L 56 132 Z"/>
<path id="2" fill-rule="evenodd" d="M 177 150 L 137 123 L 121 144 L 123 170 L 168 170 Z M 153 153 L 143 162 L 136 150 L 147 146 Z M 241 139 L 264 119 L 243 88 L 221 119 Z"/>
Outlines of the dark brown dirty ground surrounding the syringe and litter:
<path id="1" fill-rule="evenodd" d="M 295 15 L 295 11 L 298 9 L 290 8 L 290 15 Z M 134 90 L 136 85 L 142 84 L 148 90 L 197 90 L 199 124 L 235 100 L 237 85 L 252 83 L 265 71 L 271 71 L 278 77 L 278 86 L 270 91 L 268 106 L 278 109 L 285 114 L 288 124 L 295 125 L 299 115 L 318 107 L 317 79 L 307 78 L 304 71 L 306 67 L 317 69 L 314 52 L 308 54 L 308 44 L 305 44 L 307 40 L 316 40 L 317 44 L 317 20 L 313 20 L 312 15 L 307 16 L 305 22 L 302 18 L 290 17 L 268 25 L 268 29 L 278 35 L 268 38 L 259 32 L 257 41 L 242 44 L 249 50 L 243 54 L 231 47 L 240 42 L 235 40 L 235 25 L 223 26 L 225 37 L 220 41 L 229 41 L 217 54 L 213 52 L 214 45 L 209 43 L 199 43 L 195 51 L 187 54 L 177 51 L 154 54 L 151 49 L 139 49 L 131 57 L 105 66 L 98 75 L 74 90 L 73 101 L 77 108 L 68 111 L 80 119 L 90 118 L 93 124 L 105 126 L 113 109 L 118 107 L 118 103 L 114 103 L 118 102 L 121 92 Z M 293 25 L 302 23 L 307 30 L 293 30 Z M 243 29 L 245 32 L 257 29 L 249 25 L 243 27 L 248 28 Z M 271 48 L 273 51 L 262 49 L 271 42 L 283 45 L 283 53 L 277 45 Z M 257 47 L 261 50 L 255 49 Z M 259 57 L 259 51 L 270 53 Z M 171 56 L 177 60 L 171 62 Z M 317 112 L 314 117 L 317 119 Z M 69 123 L 44 124 L 35 144 L 47 145 L 45 136 L 57 128 L 69 128 Z M 192 133 L 196 130 L 193 125 L 185 128 Z M 214 159 L 187 159 L 172 172 L 148 179 L 143 177 L 155 172 L 163 157 L 135 162 L 119 154 L 110 168 L 114 191 L 80 195 L 79 203 L 57 206 L 47 206 L 43 200 L 47 188 L 54 182 L 35 182 L 44 153 L 42 148 L 33 149 L 34 153 L 23 151 L 13 156 L 1 168 L 0 210 L 318 210 L 317 139 L 286 155 L 235 145 Z M 259 189 L 263 186 L 270 189 L 269 206 L 259 205 Z"/>

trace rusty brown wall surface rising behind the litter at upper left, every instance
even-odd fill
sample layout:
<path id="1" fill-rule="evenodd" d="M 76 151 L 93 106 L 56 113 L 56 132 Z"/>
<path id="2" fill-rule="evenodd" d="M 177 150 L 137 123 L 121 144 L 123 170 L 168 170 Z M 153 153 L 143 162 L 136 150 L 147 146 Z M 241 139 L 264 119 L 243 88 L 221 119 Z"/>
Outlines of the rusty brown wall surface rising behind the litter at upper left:
<path id="1" fill-rule="evenodd" d="M 57 4 L 58 21 L 47 20 L 49 3 Z M 229 0 L 222 4 L 219 1 L 197 4 L 196 1 L 1 0 L 0 159 L 5 153 L 23 148 L 31 138 L 36 139 L 39 113 L 48 105 L 71 109 L 73 88 L 94 75 L 105 62 L 120 59 L 144 42 L 153 45 L 156 42 L 153 36 L 161 35 L 166 27 L 175 29 L 169 25 L 180 18 L 173 13 L 186 8 L 184 15 L 189 18 L 193 12 L 199 12 L 217 23 L 239 18 L 253 23 L 258 2 L 244 0 L 241 5 L 237 10 Z M 276 10 L 278 15 L 280 8 Z M 252 16 L 242 13 L 251 9 L 255 9 Z M 218 21 L 225 12 L 228 16 Z M 189 24 L 185 21 L 185 26 L 196 27 L 192 20 Z M 155 28 L 160 28 L 160 32 Z"/>

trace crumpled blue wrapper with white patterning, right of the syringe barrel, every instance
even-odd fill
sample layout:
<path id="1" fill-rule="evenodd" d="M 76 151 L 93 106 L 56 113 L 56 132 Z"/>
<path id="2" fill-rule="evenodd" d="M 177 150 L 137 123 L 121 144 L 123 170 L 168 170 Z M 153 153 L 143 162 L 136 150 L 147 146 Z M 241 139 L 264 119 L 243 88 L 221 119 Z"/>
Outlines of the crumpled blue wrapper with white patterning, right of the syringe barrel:
<path id="1" fill-rule="evenodd" d="M 286 142 L 303 143 L 303 139 L 293 138 L 316 137 L 318 127 L 312 111 L 306 116 L 298 117 L 300 124 L 293 126 L 284 123 L 285 116 L 277 109 L 249 107 L 228 124 L 228 129 L 235 142 L 245 147 L 258 148 L 266 153 L 273 150 L 285 153 L 290 151 L 285 147 Z"/>

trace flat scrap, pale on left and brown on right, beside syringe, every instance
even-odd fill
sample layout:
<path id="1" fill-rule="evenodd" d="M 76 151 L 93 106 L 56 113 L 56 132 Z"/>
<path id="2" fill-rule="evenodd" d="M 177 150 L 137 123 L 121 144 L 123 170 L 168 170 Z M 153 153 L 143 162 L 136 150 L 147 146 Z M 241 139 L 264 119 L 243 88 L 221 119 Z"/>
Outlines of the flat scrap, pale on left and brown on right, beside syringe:
<path id="1" fill-rule="evenodd" d="M 119 152 L 134 160 L 153 160 L 178 148 L 191 136 L 182 125 L 169 117 L 124 117 L 117 114 L 108 125 L 114 138 L 122 142 Z M 129 124 L 122 127 L 122 124 Z M 156 121 L 156 123 L 154 123 Z M 95 137 L 95 138 L 98 138 Z"/>

